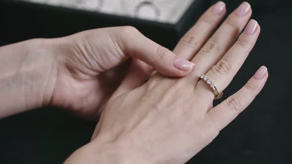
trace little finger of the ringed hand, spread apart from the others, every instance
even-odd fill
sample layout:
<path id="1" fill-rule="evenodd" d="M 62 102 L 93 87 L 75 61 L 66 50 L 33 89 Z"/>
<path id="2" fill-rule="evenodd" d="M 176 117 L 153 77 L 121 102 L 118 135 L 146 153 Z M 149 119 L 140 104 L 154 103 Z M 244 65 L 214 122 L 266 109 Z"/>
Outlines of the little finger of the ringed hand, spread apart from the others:
<path id="1" fill-rule="evenodd" d="M 268 79 L 267 68 L 262 66 L 238 92 L 211 109 L 206 114 L 206 121 L 221 130 L 232 122 L 261 91 Z"/>

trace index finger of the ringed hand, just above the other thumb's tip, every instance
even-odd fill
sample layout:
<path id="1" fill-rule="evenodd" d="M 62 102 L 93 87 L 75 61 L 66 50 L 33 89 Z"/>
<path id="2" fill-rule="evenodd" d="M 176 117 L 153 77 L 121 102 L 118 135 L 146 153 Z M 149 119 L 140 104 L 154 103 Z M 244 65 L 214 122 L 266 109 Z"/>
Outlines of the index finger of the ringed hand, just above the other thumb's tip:
<path id="1" fill-rule="evenodd" d="M 201 46 L 213 34 L 226 13 L 225 3 L 218 1 L 198 19 L 195 25 L 179 41 L 173 52 L 179 57 L 191 60 Z"/>

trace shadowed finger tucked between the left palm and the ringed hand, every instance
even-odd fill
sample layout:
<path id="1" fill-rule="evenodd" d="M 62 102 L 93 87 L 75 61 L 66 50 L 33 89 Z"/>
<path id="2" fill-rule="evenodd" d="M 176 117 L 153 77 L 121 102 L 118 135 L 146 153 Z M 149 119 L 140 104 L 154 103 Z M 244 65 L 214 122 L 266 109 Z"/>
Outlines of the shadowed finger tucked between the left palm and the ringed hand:
<path id="1" fill-rule="evenodd" d="M 152 70 L 153 67 L 149 66 L 139 59 L 133 58 L 131 66 L 124 80 L 110 99 L 115 99 L 119 95 L 144 84 L 148 80 Z"/>

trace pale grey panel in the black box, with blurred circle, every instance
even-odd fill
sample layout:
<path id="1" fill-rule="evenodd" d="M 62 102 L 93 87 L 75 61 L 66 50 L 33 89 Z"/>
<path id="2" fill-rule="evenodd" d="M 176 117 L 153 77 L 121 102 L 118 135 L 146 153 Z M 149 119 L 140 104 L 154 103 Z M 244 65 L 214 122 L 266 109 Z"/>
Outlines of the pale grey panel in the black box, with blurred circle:
<path id="1" fill-rule="evenodd" d="M 177 23 L 194 0 L 23 0 L 41 4 Z"/>

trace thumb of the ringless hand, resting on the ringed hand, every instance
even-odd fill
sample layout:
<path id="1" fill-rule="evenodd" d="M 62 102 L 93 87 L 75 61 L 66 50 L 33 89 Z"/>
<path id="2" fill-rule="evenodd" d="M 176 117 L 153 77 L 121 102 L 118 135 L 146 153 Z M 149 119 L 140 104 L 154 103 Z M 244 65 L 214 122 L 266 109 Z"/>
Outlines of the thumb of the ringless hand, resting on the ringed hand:
<path id="1" fill-rule="evenodd" d="M 162 75 L 183 77 L 195 66 L 194 63 L 178 58 L 169 49 L 146 38 L 134 27 L 118 27 L 111 37 L 126 55 L 144 61 Z"/>

